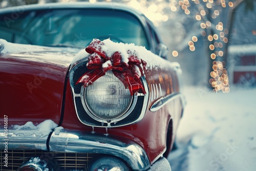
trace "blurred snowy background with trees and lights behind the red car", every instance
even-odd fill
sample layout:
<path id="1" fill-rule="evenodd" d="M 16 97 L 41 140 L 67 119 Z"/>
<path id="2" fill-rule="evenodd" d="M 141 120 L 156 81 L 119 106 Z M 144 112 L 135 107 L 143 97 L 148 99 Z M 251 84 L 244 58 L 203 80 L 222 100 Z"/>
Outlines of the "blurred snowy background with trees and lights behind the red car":
<path id="1" fill-rule="evenodd" d="M 67 0 L 0 0 L 0 7 Z M 174 171 L 256 170 L 256 1 L 90 0 L 142 11 L 183 70 Z M 215 92 L 215 93 L 212 93 Z M 217 93 L 217 94 L 216 94 Z"/>

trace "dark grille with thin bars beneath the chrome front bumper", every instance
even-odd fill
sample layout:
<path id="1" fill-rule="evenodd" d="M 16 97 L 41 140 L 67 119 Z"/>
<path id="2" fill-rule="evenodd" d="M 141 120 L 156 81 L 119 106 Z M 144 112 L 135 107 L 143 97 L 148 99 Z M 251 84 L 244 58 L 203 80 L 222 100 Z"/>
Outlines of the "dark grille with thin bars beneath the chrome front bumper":
<path id="1" fill-rule="evenodd" d="M 8 154 L 8 167 L 5 166 L 4 157 Z M 93 154 L 89 153 L 59 153 L 59 152 L 46 152 L 41 150 L 13 150 L 4 153 L 1 150 L 1 167 L 0 170 L 16 170 L 20 164 L 29 160 L 31 157 L 54 157 L 58 162 L 60 170 L 83 170 Z"/>

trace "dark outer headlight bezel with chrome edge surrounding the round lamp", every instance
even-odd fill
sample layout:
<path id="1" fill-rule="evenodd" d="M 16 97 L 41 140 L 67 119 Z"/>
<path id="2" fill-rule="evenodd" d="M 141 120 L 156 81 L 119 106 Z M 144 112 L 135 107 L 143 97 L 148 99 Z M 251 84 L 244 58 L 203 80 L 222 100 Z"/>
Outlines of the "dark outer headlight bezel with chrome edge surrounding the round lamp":
<path id="1" fill-rule="evenodd" d="M 75 111 L 79 121 L 85 125 L 95 127 L 119 127 L 139 122 L 145 115 L 149 99 L 148 85 L 145 77 L 141 77 L 141 82 L 144 86 L 146 94 L 140 92 L 134 93 L 130 108 L 127 109 L 123 115 L 111 120 L 97 117 L 95 118 L 95 116 L 93 116 L 93 114 L 87 108 L 86 103 L 83 101 L 85 88 L 83 88 L 82 83 L 76 84 L 80 76 L 84 72 L 88 71 L 86 63 L 87 60 L 77 61 L 71 66 L 69 73 L 69 81 L 73 94 Z"/>

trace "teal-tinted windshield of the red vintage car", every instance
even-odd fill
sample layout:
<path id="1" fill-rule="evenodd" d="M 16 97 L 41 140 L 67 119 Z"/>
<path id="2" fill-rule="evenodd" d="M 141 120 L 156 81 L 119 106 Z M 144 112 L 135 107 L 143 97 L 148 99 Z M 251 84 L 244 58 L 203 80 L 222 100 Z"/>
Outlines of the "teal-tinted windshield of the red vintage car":
<path id="1" fill-rule="evenodd" d="M 93 38 L 148 48 L 145 31 L 132 14 L 107 9 L 26 11 L 0 16 L 0 38 L 19 44 L 86 47 Z"/>

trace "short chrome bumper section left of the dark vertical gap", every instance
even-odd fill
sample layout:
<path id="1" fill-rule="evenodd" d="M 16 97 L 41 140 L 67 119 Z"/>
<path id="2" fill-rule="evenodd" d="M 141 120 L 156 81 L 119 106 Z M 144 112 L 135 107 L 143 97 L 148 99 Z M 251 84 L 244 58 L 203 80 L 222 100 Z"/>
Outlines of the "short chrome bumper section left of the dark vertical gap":
<path id="1" fill-rule="evenodd" d="M 36 136 L 35 130 L 26 130 L 25 134 L 15 134 L 15 130 L 8 129 L 8 134 L 4 129 L 0 129 L 0 149 L 5 149 L 5 143 L 8 149 L 42 149 L 47 151 L 48 134 L 44 137 Z"/>

